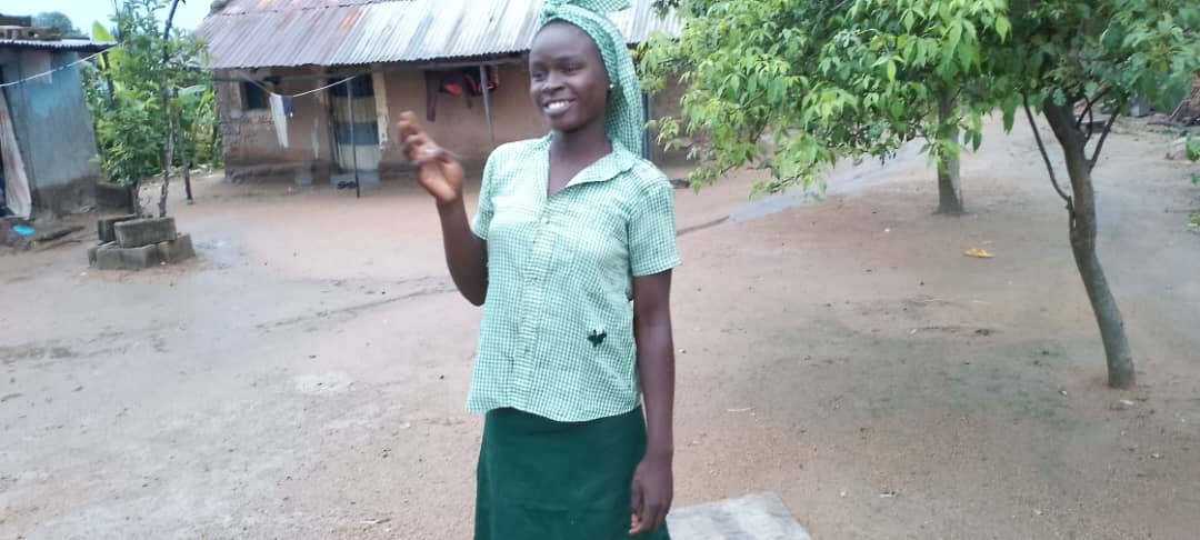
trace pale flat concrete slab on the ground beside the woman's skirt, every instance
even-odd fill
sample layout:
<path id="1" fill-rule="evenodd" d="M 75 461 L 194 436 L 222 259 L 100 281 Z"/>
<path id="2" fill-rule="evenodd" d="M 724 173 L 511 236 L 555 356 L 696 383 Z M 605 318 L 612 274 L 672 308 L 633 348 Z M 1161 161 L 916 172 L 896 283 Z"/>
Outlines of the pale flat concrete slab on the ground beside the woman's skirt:
<path id="1" fill-rule="evenodd" d="M 667 527 L 674 540 L 812 540 L 774 493 L 672 510 Z"/>

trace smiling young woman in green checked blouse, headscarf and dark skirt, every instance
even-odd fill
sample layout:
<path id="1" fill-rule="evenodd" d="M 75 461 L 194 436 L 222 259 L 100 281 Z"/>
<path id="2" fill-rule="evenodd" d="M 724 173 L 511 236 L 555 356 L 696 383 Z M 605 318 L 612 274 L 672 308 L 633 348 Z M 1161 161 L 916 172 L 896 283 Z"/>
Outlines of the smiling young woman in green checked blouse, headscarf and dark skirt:
<path id="1" fill-rule="evenodd" d="M 547 1 L 529 73 L 552 132 L 492 152 L 473 222 L 462 166 L 401 121 L 455 286 L 484 306 L 475 540 L 668 538 L 679 256 L 673 190 L 638 157 L 641 89 L 604 14 L 623 7 Z"/>

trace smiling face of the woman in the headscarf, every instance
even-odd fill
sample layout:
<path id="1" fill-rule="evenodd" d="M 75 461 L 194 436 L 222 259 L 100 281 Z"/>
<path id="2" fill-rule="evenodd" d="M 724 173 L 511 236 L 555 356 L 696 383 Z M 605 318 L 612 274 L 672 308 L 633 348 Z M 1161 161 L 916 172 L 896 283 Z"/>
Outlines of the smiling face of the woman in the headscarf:
<path id="1" fill-rule="evenodd" d="M 608 73 L 592 37 L 563 22 L 542 28 L 529 50 L 529 95 L 554 131 L 604 122 Z"/>

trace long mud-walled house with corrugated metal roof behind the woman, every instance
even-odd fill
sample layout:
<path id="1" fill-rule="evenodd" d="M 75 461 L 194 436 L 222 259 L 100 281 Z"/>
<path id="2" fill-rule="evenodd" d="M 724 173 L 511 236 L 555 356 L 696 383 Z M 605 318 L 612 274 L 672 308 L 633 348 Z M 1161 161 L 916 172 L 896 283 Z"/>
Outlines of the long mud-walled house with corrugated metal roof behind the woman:
<path id="1" fill-rule="evenodd" d="M 678 20 L 660 18 L 652 0 L 634 5 L 611 16 L 630 44 L 655 31 L 678 34 Z M 404 110 L 476 164 L 498 144 L 545 134 L 526 59 L 541 7 L 541 0 L 215 1 L 194 34 L 215 68 L 227 176 L 307 184 L 350 170 L 396 175 L 407 164 L 391 127 Z M 674 103 L 656 98 L 648 108 L 676 110 L 678 92 L 665 95 Z"/>

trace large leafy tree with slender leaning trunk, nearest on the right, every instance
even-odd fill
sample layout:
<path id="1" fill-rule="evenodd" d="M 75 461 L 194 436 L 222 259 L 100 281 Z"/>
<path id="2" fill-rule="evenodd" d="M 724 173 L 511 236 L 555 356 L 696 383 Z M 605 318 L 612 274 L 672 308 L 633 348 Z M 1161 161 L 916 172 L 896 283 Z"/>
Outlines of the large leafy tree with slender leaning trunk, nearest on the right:
<path id="1" fill-rule="evenodd" d="M 1117 304 L 1096 253 L 1091 172 L 1130 97 L 1156 97 L 1200 73 L 1200 5 L 1188 0 L 668 0 L 685 19 L 679 40 L 656 38 L 643 52 L 653 84 L 682 72 L 690 84 L 682 119 L 658 127 L 670 139 L 685 124 L 710 148 L 694 179 L 761 162 L 772 179 L 760 190 L 822 187 L 838 158 L 887 155 L 919 131 L 913 114 L 958 80 L 967 96 L 965 140 L 977 146 L 980 113 L 1000 108 L 1012 130 L 1019 108 L 1040 110 L 1066 162 L 1058 176 L 1038 137 L 1051 184 L 1067 203 L 1072 252 L 1104 343 L 1109 384 L 1135 382 Z M 815 68 L 814 68 L 815 66 Z M 932 70 L 932 82 L 917 77 Z M 954 72 L 970 77 L 952 77 Z M 970 78 L 973 84 L 961 84 Z M 952 86 L 953 88 L 953 86 Z M 1028 107 L 1026 107 L 1028 103 Z M 1103 122 L 1092 121 L 1109 110 Z M 936 122 L 928 146 L 952 154 L 960 122 Z M 769 133 L 769 138 L 763 138 Z M 928 130 L 926 130 L 928 133 Z"/>

